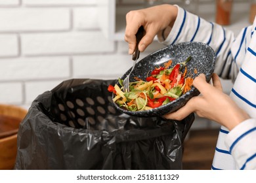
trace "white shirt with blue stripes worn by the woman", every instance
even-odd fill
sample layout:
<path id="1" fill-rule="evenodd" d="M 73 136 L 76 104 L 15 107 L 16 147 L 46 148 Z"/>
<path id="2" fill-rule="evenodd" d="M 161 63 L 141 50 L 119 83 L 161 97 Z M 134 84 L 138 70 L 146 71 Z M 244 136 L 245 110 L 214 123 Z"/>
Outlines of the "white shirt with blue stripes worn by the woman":
<path id="1" fill-rule="evenodd" d="M 211 169 L 256 169 L 256 20 L 235 37 L 221 25 L 178 8 L 175 24 L 162 43 L 196 41 L 211 46 L 215 73 L 234 82 L 230 97 L 251 116 L 232 131 L 221 127 Z"/>

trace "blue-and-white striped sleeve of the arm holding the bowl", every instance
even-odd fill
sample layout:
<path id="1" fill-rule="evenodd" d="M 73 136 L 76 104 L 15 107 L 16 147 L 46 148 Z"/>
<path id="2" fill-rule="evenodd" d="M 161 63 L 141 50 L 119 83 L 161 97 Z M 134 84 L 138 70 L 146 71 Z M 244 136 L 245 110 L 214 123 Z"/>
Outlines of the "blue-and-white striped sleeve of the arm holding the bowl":
<path id="1" fill-rule="evenodd" d="M 256 120 L 245 120 L 226 135 L 226 146 L 238 169 L 256 169 Z"/>

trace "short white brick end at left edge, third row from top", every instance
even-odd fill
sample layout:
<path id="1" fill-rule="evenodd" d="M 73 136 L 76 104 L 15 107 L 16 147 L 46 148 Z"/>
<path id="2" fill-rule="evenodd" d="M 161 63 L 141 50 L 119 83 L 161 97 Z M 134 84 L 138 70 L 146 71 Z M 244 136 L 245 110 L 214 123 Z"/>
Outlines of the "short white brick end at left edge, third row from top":
<path id="1" fill-rule="evenodd" d="M 18 56 L 16 35 L 0 35 L 0 57 Z"/>

